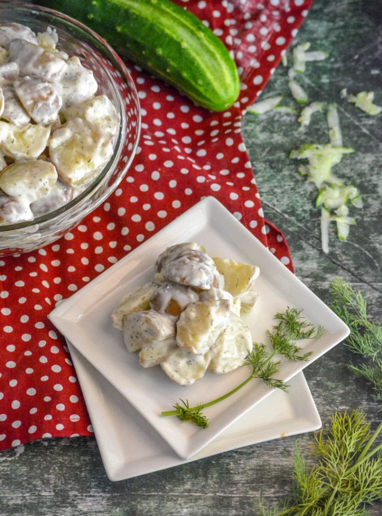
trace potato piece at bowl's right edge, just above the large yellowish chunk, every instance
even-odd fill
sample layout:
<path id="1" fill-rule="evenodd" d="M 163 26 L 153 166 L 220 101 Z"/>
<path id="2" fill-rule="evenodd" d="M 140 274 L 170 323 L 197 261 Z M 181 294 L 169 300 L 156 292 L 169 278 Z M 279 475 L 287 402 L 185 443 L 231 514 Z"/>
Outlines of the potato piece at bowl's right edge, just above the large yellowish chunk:
<path id="1" fill-rule="evenodd" d="M 117 110 L 106 95 L 99 95 L 94 99 L 73 104 L 68 109 L 63 109 L 61 114 L 65 120 L 79 117 L 92 122 L 101 127 L 109 138 L 117 134 L 120 124 Z"/>

